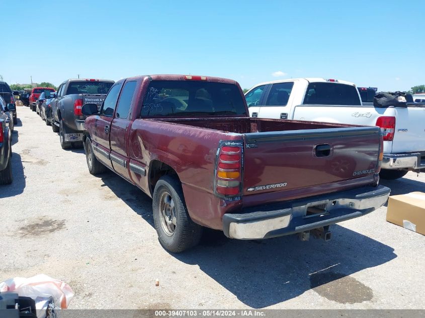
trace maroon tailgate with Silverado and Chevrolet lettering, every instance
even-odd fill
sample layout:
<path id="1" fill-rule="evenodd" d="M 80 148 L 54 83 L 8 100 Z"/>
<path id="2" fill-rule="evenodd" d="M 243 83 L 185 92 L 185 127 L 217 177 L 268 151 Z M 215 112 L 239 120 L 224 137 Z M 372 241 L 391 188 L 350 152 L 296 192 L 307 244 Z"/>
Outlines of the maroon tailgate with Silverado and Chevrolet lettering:
<path id="1" fill-rule="evenodd" d="M 373 180 L 379 138 L 378 127 L 244 134 L 243 194 Z"/>

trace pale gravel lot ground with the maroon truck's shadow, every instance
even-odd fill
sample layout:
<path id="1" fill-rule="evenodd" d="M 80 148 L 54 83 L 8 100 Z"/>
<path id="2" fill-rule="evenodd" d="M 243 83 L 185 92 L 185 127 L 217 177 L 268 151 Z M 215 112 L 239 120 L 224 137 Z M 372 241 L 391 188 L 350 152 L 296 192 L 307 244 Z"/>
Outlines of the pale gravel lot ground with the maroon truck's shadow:
<path id="1" fill-rule="evenodd" d="M 146 195 L 112 172 L 89 174 L 83 150 L 62 150 L 27 107 L 18 117 L 14 183 L 0 187 L 0 281 L 62 279 L 70 308 L 425 308 L 425 237 L 387 223 L 385 206 L 331 227 L 329 242 L 214 232 L 172 255 Z M 381 184 L 425 191 L 425 173 Z"/>

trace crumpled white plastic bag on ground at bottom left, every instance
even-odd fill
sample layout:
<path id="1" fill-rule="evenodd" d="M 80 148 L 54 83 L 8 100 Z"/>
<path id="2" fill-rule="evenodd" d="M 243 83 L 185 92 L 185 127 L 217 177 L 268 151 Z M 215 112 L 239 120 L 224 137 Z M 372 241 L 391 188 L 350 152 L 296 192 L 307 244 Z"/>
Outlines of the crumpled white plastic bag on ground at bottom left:
<path id="1" fill-rule="evenodd" d="M 44 274 L 33 277 L 15 277 L 0 283 L 0 292 L 15 292 L 19 296 L 31 297 L 36 301 L 37 316 L 40 309 L 46 309 L 46 301 L 53 297 L 56 308 L 66 309 L 74 292 L 67 283 Z"/>

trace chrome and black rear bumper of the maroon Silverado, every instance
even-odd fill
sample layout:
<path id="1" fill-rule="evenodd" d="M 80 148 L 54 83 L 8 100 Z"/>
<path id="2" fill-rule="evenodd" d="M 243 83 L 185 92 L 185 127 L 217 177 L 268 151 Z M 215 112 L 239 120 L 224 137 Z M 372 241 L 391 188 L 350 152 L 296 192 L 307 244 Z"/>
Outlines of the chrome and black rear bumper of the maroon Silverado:
<path id="1" fill-rule="evenodd" d="M 223 216 L 223 232 L 232 239 L 268 239 L 324 227 L 368 214 L 381 207 L 390 189 L 367 186 L 263 207 Z M 306 217 L 309 206 L 325 206 L 323 213 Z"/>

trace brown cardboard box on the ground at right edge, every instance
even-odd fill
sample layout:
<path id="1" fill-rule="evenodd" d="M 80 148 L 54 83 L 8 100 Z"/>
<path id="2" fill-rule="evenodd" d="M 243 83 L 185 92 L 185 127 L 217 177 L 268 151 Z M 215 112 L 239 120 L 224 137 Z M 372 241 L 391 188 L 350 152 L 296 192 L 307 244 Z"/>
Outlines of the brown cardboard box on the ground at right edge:
<path id="1" fill-rule="evenodd" d="M 387 221 L 425 235 L 425 193 L 410 192 L 390 196 Z"/>

